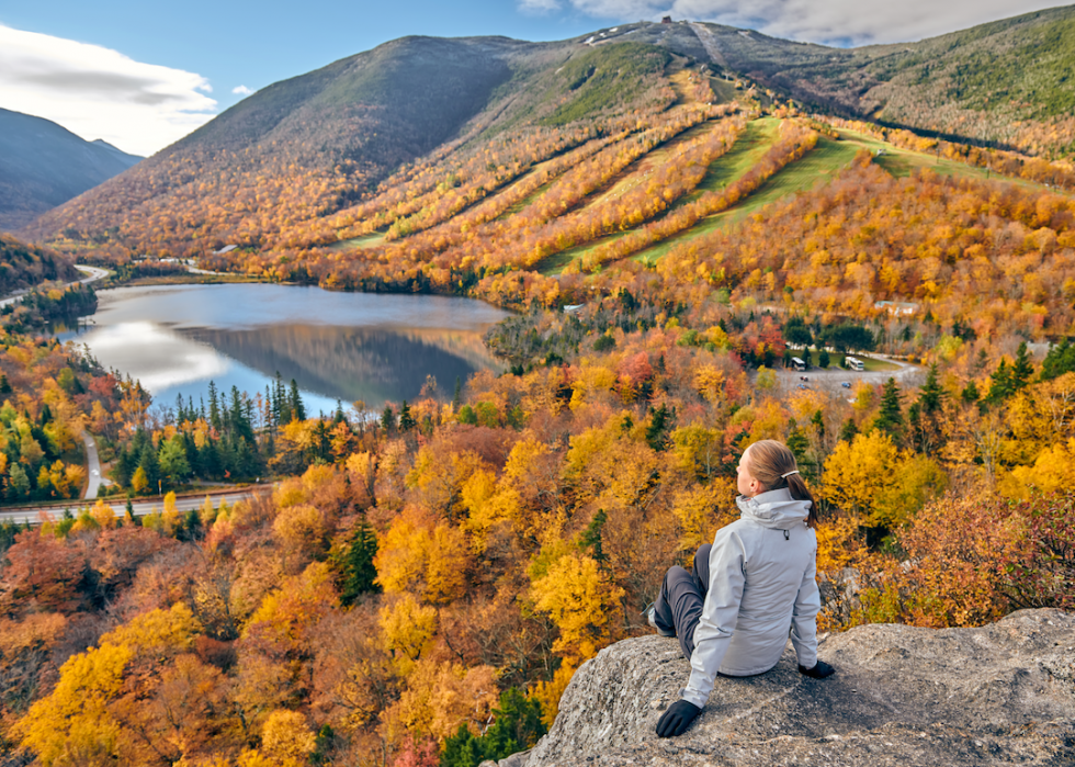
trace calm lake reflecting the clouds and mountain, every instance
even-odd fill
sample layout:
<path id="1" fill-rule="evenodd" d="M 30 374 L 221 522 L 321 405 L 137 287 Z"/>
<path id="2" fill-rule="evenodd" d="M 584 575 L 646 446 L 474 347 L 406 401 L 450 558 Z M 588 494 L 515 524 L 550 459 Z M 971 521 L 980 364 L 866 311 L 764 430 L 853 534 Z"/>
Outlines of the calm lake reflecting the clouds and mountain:
<path id="1" fill-rule="evenodd" d="M 253 396 L 279 372 L 310 414 L 362 401 L 418 396 L 426 376 L 452 395 L 455 380 L 496 369 L 482 336 L 507 313 L 467 298 L 333 293 L 294 285 L 158 285 L 98 292 L 87 327 L 58 332 L 86 343 L 106 369 L 138 379 L 155 404 L 197 405 L 210 381 Z"/>

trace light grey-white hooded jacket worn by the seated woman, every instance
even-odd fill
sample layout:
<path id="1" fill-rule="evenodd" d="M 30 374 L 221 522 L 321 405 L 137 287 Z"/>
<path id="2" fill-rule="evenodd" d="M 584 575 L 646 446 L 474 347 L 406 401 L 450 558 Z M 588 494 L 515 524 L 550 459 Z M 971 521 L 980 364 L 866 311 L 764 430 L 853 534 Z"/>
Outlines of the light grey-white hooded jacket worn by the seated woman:
<path id="1" fill-rule="evenodd" d="M 691 676 L 682 698 L 705 706 L 717 672 L 750 676 L 768 672 L 789 634 L 799 663 L 817 663 L 814 580 L 817 539 L 806 527 L 808 500 L 787 488 L 739 496 L 739 519 L 721 528 L 710 552 L 710 584 L 694 628 Z"/>

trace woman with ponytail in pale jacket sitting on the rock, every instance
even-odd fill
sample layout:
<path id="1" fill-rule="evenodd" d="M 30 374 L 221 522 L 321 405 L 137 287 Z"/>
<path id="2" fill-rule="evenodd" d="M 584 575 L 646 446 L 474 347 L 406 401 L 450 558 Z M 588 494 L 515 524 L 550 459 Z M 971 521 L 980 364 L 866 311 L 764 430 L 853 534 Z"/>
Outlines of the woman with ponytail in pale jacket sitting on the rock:
<path id="1" fill-rule="evenodd" d="M 721 528 L 694 555 L 693 572 L 665 575 L 649 623 L 678 636 L 691 676 L 657 723 L 657 734 L 682 734 L 721 676 L 752 676 L 777 665 L 789 633 L 799 672 L 821 679 L 833 667 L 817 659 L 814 582 L 817 512 L 795 456 L 774 440 L 755 442 L 739 459 L 738 520 Z"/>

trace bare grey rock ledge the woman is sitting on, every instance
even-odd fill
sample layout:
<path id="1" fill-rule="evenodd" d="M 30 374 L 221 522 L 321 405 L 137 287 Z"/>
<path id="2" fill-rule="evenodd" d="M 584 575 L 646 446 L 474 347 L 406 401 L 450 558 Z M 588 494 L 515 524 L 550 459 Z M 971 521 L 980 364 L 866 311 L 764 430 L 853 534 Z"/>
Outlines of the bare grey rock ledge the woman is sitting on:
<path id="1" fill-rule="evenodd" d="M 863 625 L 818 654 L 834 676 L 800 675 L 789 646 L 767 674 L 718 678 L 691 729 L 661 740 L 690 665 L 675 639 L 619 642 L 575 674 L 527 767 L 1075 765 L 1075 613 Z"/>

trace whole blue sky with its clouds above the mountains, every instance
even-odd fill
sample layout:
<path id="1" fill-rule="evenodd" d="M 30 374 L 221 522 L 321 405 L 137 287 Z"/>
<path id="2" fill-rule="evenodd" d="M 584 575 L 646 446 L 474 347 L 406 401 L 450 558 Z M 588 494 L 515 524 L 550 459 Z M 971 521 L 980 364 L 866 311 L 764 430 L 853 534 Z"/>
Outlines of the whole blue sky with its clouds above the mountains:
<path id="1" fill-rule="evenodd" d="M 715 21 L 835 45 L 919 40 L 1040 0 L 41 0 L 0 3 L 0 108 L 148 155 L 278 80 L 404 35 L 563 40 L 615 23 Z M 149 10 L 151 8 L 151 10 Z"/>

